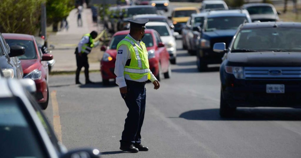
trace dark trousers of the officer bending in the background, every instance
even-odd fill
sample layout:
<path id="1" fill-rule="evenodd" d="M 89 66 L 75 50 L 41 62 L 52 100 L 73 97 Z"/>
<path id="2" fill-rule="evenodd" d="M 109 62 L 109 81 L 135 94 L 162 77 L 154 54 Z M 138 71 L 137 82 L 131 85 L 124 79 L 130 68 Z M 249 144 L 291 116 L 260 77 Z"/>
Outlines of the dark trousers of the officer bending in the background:
<path id="1" fill-rule="evenodd" d="M 82 67 L 85 67 L 85 77 L 86 81 L 89 81 L 89 63 L 88 63 L 88 54 L 87 53 L 82 53 L 81 56 L 76 53 L 76 76 L 75 76 L 75 81 L 79 82 L 79 73 Z"/>

